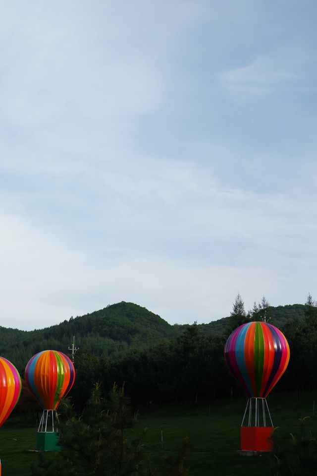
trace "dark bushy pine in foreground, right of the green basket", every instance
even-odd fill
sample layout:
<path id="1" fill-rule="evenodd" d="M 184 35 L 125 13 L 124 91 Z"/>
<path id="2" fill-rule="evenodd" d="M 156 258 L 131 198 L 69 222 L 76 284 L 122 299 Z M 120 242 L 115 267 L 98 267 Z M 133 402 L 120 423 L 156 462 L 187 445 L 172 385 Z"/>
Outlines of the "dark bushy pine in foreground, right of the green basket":
<path id="1" fill-rule="evenodd" d="M 129 400 L 124 388 L 113 386 L 108 400 L 101 396 L 100 384 L 94 387 L 81 416 L 65 401 L 58 433 L 61 451 L 40 454 L 33 467 L 34 476 L 107 475 L 122 476 L 135 473 L 141 455 L 140 441 L 127 441 L 131 428 Z"/>

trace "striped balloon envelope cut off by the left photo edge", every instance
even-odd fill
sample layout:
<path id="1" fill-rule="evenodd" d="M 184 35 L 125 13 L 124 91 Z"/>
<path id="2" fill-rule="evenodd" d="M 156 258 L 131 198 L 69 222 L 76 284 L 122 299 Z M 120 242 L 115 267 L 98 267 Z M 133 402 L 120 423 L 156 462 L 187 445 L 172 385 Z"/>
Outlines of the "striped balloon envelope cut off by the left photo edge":
<path id="1" fill-rule="evenodd" d="M 0 357 L 0 426 L 14 409 L 21 393 L 21 377 L 14 365 Z"/>

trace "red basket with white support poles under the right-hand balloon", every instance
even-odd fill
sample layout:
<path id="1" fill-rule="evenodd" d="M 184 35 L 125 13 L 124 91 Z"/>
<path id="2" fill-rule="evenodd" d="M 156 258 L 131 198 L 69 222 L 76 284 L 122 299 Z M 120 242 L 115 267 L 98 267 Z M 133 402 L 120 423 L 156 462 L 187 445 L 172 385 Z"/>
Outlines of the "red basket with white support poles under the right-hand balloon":
<path id="1" fill-rule="evenodd" d="M 272 434 L 273 423 L 266 399 L 250 398 L 241 423 L 241 451 L 272 451 Z"/>

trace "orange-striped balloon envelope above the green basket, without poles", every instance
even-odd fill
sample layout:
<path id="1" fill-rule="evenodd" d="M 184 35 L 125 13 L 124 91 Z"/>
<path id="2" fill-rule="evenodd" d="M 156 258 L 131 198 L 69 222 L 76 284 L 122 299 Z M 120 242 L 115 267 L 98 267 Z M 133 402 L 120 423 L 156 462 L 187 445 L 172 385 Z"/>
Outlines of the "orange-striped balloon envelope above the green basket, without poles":
<path id="1" fill-rule="evenodd" d="M 56 410 L 74 384 L 75 369 L 62 352 L 42 351 L 28 361 L 25 379 L 41 407 Z"/>

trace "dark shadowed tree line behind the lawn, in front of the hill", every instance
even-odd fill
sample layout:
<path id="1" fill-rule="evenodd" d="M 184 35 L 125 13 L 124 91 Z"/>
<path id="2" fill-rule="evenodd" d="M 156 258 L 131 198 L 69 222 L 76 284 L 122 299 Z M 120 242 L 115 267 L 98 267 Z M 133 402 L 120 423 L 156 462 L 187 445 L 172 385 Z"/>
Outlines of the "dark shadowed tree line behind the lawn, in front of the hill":
<path id="1" fill-rule="evenodd" d="M 250 320 L 266 320 L 277 325 L 286 336 L 291 358 L 289 368 L 275 391 L 302 391 L 317 388 L 317 307 L 311 295 L 304 306 L 304 318 L 289 320 L 283 326 L 271 318 L 264 297 L 246 311 L 238 295 L 221 334 L 203 333 L 197 324 L 169 341 L 148 349 L 134 349 L 121 357 L 94 356 L 87 349 L 75 355 L 76 385 L 74 404 L 81 408 L 96 381 L 106 393 L 113 383 L 125 385 L 132 404 L 150 405 L 180 401 L 211 401 L 242 395 L 224 363 L 224 344 L 230 333 Z"/>

